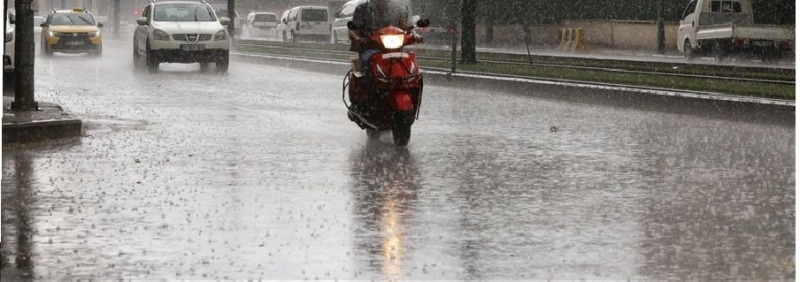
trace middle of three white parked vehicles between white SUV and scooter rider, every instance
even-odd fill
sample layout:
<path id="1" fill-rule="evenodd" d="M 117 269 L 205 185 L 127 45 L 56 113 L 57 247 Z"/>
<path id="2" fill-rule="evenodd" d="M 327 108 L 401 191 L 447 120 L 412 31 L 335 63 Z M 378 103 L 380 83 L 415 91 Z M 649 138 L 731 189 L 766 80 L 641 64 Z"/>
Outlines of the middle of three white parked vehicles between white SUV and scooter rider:
<path id="1" fill-rule="evenodd" d="M 298 6 L 289 10 L 284 20 L 284 40 L 312 39 L 328 42 L 331 38 L 330 11 L 325 6 Z"/>

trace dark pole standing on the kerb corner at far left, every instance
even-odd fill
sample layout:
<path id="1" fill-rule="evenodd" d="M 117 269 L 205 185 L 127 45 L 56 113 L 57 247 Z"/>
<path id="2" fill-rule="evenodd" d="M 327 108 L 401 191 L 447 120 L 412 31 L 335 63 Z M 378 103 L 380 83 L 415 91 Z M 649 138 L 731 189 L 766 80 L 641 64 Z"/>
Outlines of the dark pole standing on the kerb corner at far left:
<path id="1" fill-rule="evenodd" d="M 15 0 L 16 23 L 14 36 L 14 102 L 11 109 L 19 111 L 38 110 L 33 95 L 33 10 L 32 0 Z"/>

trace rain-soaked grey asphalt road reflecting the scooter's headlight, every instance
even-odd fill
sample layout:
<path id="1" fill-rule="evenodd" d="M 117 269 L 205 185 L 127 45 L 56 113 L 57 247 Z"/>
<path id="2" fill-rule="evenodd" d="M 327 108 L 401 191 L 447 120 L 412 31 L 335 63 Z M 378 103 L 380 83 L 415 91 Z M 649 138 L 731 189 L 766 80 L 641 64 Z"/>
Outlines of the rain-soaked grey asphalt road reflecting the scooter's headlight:
<path id="1" fill-rule="evenodd" d="M 343 74 L 130 53 L 37 58 L 86 136 L 4 149 L 5 275 L 794 278 L 793 124 L 428 85 L 401 149 L 346 118 Z"/>

